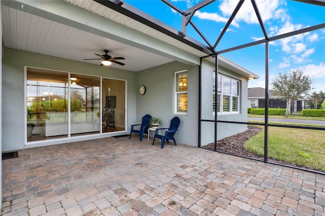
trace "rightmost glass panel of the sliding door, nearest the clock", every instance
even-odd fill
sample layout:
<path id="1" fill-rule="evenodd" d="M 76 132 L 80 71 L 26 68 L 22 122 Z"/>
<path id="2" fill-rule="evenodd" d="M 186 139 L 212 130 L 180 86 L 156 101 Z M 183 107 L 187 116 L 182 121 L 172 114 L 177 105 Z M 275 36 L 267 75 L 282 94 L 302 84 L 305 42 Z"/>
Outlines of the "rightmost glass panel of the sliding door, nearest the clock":
<path id="1" fill-rule="evenodd" d="M 125 81 L 103 79 L 103 133 L 125 130 Z"/>

